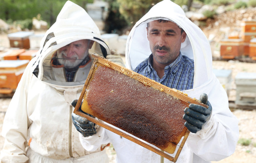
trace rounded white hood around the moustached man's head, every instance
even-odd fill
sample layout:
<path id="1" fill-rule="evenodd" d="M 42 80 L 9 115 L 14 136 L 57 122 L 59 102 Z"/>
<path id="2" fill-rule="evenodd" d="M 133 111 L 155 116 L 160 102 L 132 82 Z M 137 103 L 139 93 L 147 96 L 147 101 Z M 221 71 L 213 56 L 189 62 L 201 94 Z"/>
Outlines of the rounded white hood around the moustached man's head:
<path id="1" fill-rule="evenodd" d="M 126 43 L 126 67 L 136 66 L 152 53 L 147 40 L 146 24 L 157 19 L 175 22 L 186 32 L 181 44 L 181 54 L 194 60 L 194 86 L 203 85 L 212 78 L 212 54 L 207 38 L 198 26 L 191 22 L 180 6 L 170 0 L 163 0 L 149 10 L 133 27 Z"/>

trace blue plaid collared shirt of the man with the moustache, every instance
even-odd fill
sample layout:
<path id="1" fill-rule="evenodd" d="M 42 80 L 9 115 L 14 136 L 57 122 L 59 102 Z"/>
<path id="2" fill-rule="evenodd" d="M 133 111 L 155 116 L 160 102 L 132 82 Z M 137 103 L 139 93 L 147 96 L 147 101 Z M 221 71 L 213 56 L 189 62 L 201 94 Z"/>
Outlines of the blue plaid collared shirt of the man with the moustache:
<path id="1" fill-rule="evenodd" d="M 152 67 L 153 55 L 141 62 L 134 71 L 169 88 L 180 91 L 193 88 L 194 61 L 186 56 L 179 55 L 170 65 L 164 68 L 164 76 L 159 78 Z"/>

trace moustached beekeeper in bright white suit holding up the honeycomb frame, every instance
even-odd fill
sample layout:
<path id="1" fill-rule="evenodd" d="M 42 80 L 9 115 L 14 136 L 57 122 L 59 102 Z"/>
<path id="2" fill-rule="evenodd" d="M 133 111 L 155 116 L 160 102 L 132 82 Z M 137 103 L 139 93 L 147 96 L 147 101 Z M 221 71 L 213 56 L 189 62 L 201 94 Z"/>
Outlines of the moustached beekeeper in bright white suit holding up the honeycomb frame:
<path id="1" fill-rule="evenodd" d="M 126 44 L 126 67 L 209 106 L 190 104 L 184 108 L 185 126 L 191 133 L 177 163 L 209 163 L 232 155 L 238 140 L 238 120 L 212 72 L 207 38 L 180 6 L 164 0 L 135 24 Z M 118 163 L 160 162 L 160 155 L 107 129 L 98 134 L 110 139 Z M 92 151 L 103 142 L 97 142 L 94 135 L 80 135 L 80 139 L 83 147 Z"/>

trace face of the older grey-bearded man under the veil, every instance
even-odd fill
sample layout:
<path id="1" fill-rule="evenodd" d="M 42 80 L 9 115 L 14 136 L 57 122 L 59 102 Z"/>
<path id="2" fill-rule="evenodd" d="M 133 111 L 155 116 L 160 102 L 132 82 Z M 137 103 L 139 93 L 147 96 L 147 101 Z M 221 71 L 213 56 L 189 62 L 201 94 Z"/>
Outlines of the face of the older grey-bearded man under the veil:
<path id="1" fill-rule="evenodd" d="M 78 40 L 57 50 L 60 64 L 66 68 L 78 66 L 88 56 L 88 51 L 94 42 L 91 40 Z"/>

